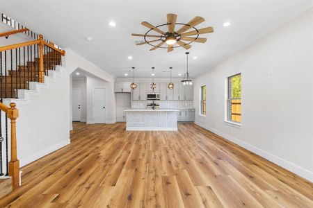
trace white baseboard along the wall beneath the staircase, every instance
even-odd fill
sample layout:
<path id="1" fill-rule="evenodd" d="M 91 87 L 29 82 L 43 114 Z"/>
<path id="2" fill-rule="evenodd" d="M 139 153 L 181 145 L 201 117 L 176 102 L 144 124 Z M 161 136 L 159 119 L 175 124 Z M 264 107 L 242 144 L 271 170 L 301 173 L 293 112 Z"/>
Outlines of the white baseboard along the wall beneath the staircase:
<path id="1" fill-rule="evenodd" d="M 26 166 L 26 164 L 30 164 L 31 162 L 34 162 L 37 159 L 40 159 L 41 157 L 44 157 L 45 155 L 48 155 L 50 153 L 53 153 L 54 151 L 63 148 L 64 146 L 67 146 L 70 144 L 70 139 L 66 139 L 65 141 L 61 141 L 58 144 L 55 144 L 54 146 L 50 146 L 49 148 L 46 148 L 45 150 L 41 150 L 37 153 L 33 153 L 32 155 L 29 155 L 28 157 L 21 158 L 19 160 L 19 165 Z"/>

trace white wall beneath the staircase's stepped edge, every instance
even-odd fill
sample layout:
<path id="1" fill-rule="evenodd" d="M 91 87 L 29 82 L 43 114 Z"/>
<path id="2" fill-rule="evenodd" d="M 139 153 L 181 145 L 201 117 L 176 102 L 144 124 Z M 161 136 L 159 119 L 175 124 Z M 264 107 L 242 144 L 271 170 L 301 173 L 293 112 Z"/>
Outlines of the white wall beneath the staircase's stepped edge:
<path id="1" fill-rule="evenodd" d="M 49 79 L 49 85 L 37 84 L 38 92 L 26 100 L 6 99 L 4 104 L 17 103 L 17 157 L 20 165 L 29 164 L 58 148 L 70 144 L 70 83 L 67 70 Z"/>

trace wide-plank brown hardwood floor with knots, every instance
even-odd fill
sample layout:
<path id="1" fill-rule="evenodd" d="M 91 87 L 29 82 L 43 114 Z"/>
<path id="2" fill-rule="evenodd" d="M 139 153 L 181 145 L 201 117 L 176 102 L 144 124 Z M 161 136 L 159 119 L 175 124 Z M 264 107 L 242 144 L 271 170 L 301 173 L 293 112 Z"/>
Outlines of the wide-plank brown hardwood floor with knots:
<path id="1" fill-rule="evenodd" d="M 0 207 L 313 207 L 313 184 L 192 123 L 126 132 L 74 123 Z"/>

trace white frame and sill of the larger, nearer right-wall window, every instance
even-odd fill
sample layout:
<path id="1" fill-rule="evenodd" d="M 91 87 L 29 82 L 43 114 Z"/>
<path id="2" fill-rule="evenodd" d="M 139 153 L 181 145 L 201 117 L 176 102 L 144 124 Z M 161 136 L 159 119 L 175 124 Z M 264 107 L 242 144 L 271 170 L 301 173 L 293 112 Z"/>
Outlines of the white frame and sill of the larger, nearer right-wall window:
<path id="1" fill-rule="evenodd" d="M 241 76 L 241 73 L 235 73 L 232 76 L 227 76 L 226 78 L 226 116 L 225 116 L 225 121 L 228 123 L 232 123 L 235 125 L 241 125 L 241 122 L 239 121 L 234 121 L 232 120 L 232 101 L 233 100 L 241 100 L 240 98 L 232 98 L 232 83 L 231 80 L 234 76 Z M 242 76 L 241 76 L 242 78 Z M 240 90 L 242 89 L 241 85 L 240 85 Z M 241 105 L 241 103 L 240 103 Z"/>

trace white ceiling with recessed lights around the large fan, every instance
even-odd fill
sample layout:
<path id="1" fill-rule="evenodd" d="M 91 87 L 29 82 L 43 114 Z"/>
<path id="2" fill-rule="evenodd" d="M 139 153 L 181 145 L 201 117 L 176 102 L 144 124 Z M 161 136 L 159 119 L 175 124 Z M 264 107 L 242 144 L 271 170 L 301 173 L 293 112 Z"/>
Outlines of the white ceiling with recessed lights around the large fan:
<path id="1" fill-rule="evenodd" d="M 151 46 L 136 46 L 131 33 L 145 33 L 141 21 L 159 25 L 166 23 L 166 14 L 178 15 L 177 22 L 186 23 L 195 16 L 206 19 L 197 28 L 212 26 L 214 33 L 204 44 L 193 43 L 189 69 L 199 76 L 244 46 L 273 31 L 313 6 L 313 0 L 18 0 L 1 2 L 1 11 L 48 40 L 76 51 L 97 66 L 117 77 L 136 67 L 136 76 L 156 77 L 173 67 L 173 76 L 184 73 L 186 50 L 171 53 L 166 49 L 149 51 Z M 115 21 L 114 28 L 109 21 Z M 231 25 L 224 28 L 225 21 Z M 88 42 L 86 37 L 93 37 Z M 131 55 L 133 60 L 128 60 Z M 197 60 L 193 60 L 197 56 Z"/>

